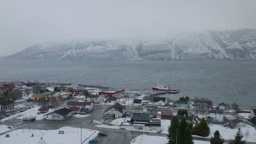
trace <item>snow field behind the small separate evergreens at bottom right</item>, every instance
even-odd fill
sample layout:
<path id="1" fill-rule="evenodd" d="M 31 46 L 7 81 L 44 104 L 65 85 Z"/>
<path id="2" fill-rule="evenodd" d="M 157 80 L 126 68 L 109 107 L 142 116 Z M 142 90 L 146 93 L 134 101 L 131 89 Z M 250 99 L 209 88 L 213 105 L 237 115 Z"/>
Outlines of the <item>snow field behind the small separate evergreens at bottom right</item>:
<path id="1" fill-rule="evenodd" d="M 225 140 L 229 140 L 230 138 L 234 138 L 234 135 L 236 134 L 237 129 L 231 129 L 228 127 L 223 127 L 220 125 L 210 125 L 210 136 L 213 136 L 213 133 L 218 130 L 220 131 L 220 134 Z M 256 130 L 255 128 L 241 128 L 243 131 L 243 134 L 245 135 L 245 139 L 247 139 L 248 142 L 256 142 Z"/>

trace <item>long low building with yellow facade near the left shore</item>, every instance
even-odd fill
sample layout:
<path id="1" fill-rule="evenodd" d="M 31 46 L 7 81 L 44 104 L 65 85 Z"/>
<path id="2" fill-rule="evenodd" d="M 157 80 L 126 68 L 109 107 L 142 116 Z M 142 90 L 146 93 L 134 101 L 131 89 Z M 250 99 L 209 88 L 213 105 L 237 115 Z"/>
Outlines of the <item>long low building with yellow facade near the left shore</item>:
<path id="1" fill-rule="evenodd" d="M 43 92 L 40 94 L 35 94 L 32 95 L 32 98 L 35 100 L 42 100 L 42 99 L 46 99 L 46 100 L 56 100 L 56 101 L 61 101 L 63 99 L 69 98 L 69 94 L 70 92 Z"/>

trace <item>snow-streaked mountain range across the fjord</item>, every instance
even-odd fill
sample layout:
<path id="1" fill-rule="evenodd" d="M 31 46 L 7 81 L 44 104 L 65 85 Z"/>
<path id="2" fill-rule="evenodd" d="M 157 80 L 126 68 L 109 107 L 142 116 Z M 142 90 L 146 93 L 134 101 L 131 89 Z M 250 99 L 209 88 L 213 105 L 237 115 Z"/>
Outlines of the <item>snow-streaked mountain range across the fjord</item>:
<path id="1" fill-rule="evenodd" d="M 256 60 L 256 30 L 181 33 L 158 41 L 42 43 L 3 59 L 234 59 Z"/>

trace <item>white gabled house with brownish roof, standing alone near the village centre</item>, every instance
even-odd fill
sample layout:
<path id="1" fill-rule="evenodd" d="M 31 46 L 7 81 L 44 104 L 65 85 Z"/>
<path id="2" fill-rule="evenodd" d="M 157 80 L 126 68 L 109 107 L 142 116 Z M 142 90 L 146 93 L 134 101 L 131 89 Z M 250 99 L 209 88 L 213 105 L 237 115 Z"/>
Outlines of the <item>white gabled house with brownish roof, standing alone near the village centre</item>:
<path id="1" fill-rule="evenodd" d="M 125 106 L 116 103 L 104 111 L 103 116 L 108 118 L 121 118 L 125 114 Z"/>

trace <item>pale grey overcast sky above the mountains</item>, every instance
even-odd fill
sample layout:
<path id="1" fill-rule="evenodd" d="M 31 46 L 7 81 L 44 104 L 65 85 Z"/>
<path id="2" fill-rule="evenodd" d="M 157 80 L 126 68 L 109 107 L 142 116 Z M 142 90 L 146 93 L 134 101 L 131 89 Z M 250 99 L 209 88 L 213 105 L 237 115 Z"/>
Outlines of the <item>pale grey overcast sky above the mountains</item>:
<path id="1" fill-rule="evenodd" d="M 1 0 L 0 56 L 46 41 L 256 28 L 256 0 Z"/>

